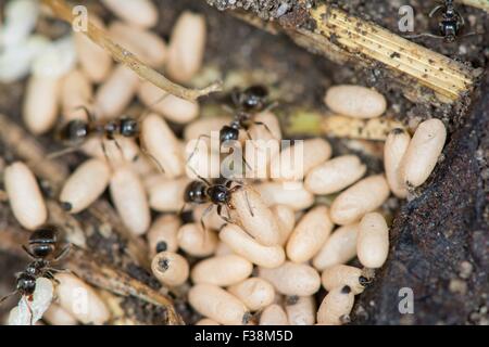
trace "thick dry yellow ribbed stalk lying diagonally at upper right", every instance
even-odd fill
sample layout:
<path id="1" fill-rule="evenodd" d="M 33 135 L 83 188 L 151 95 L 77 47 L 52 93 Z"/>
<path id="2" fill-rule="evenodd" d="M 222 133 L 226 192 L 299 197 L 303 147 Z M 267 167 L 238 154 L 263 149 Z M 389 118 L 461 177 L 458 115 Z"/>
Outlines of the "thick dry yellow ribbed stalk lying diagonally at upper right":
<path id="1" fill-rule="evenodd" d="M 457 100 L 474 83 L 473 69 L 389 30 L 327 5 L 311 10 L 321 34 L 351 54 L 363 55 L 414 77 L 442 97 Z"/>

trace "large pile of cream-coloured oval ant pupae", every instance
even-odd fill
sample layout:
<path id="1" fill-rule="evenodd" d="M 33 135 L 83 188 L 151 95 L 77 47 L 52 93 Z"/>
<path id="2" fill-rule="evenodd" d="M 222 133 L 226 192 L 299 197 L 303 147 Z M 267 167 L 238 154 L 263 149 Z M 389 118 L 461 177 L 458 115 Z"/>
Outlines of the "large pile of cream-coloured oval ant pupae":
<path id="1" fill-rule="evenodd" d="M 10 2 L 23 1 L 28 0 Z M 184 12 L 166 43 L 150 30 L 158 22 L 152 2 L 131 1 L 139 11 L 118 1 L 102 2 L 120 18 L 106 24 L 111 38 L 146 64 L 183 83 L 201 69 L 202 15 Z M 92 14 L 90 20 L 105 26 Z M 25 30 L 25 39 L 30 31 Z M 358 155 L 333 157 L 322 138 L 301 142 L 299 166 L 292 163 L 299 142 L 278 145 L 281 130 L 266 88 L 234 92 L 234 117 L 199 118 L 198 103 L 166 94 L 114 65 L 83 34 L 65 40 L 73 42 L 72 62 L 60 70 L 50 66 L 68 61 L 51 50 L 51 59 L 43 60 L 46 69 L 40 69 L 46 74 L 32 69 L 24 99 L 24 124 L 32 133 L 43 134 L 61 124 L 55 132 L 63 147 L 50 158 L 72 151 L 89 157 L 64 182 L 59 196 L 63 209 L 78 214 L 109 188 L 126 228 L 146 237 L 152 273 L 165 287 L 186 295 L 202 316 L 198 324 L 348 322 L 354 296 L 388 256 L 381 206 L 391 192 L 405 198 L 428 179 L 444 145 L 443 124 L 423 121 L 413 137 L 402 129 L 391 131 L 385 174 L 365 177 L 367 167 Z M 150 112 L 124 116 L 136 97 Z M 325 103 L 353 118 L 379 117 L 387 107 L 381 94 L 360 86 L 331 87 Z M 185 126 L 181 138 L 168 121 Z M 211 131 L 218 132 L 220 147 L 229 140 L 251 142 L 242 154 L 243 168 L 261 172 L 261 179 L 215 179 L 222 172 L 220 166 L 208 165 L 220 157 L 205 146 Z M 260 141 L 277 146 L 263 149 Z M 35 260 L 17 278 L 22 299 L 11 322 L 28 324 L 43 316 L 52 324 L 110 323 L 110 310 L 95 288 L 50 268 L 59 260 L 55 227 L 45 227 L 48 208 L 33 170 L 12 163 L 3 181 L 13 215 L 34 231 L 27 250 Z M 330 205 L 316 204 L 324 195 L 334 197 Z M 151 210 L 161 215 L 152 220 Z M 191 211 L 193 221 L 183 223 L 181 210 Z M 355 257 L 363 269 L 347 265 Z M 190 267 L 189 258 L 199 260 Z M 317 303 L 322 286 L 327 295 Z M 76 288 L 87 293 L 88 309 L 76 309 Z M 52 297 L 55 304 L 48 309 Z"/>

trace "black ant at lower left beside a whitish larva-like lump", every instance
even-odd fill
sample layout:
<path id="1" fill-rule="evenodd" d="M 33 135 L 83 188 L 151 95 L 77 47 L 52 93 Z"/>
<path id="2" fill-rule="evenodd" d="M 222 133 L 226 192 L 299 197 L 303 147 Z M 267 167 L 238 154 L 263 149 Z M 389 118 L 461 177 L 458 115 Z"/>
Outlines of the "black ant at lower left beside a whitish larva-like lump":
<path id="1" fill-rule="evenodd" d="M 53 259 L 49 259 L 55 250 L 58 244 L 58 233 L 59 231 L 57 227 L 43 226 L 30 234 L 28 247 L 23 245 L 22 248 L 29 255 L 33 261 L 27 265 L 23 272 L 18 272 L 16 274 L 15 291 L 2 297 L 0 299 L 0 304 L 17 293 L 22 296 L 26 296 L 28 301 L 33 301 L 33 295 L 36 291 L 36 280 L 38 278 L 46 278 L 57 282 L 53 273 L 63 270 L 54 269 L 50 266 L 51 264 L 63 259 L 71 248 L 71 245 L 68 244 Z M 30 312 L 30 317 L 33 316 L 32 313 L 33 312 Z"/>

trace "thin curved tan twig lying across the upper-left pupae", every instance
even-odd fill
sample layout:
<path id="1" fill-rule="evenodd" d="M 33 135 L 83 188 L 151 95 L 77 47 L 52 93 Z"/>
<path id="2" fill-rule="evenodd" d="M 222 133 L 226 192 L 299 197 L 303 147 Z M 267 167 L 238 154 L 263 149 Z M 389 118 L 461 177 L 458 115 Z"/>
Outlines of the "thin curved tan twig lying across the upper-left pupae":
<path id="1" fill-rule="evenodd" d="M 66 3 L 66 1 L 42 0 L 42 2 L 48 5 L 52 10 L 52 12 L 61 20 L 64 20 L 67 23 L 74 22 L 75 15 L 73 14 L 71 7 Z M 216 81 L 203 89 L 188 89 L 180 85 L 172 82 L 162 74 L 142 63 L 128 50 L 113 42 L 104 33 L 104 30 L 93 25 L 90 21 L 88 21 L 87 30 L 83 31 L 83 34 L 85 34 L 88 38 L 90 38 L 90 40 L 108 51 L 115 61 L 128 66 L 136 74 L 138 74 L 139 77 L 152 82 L 154 86 L 175 97 L 195 101 L 200 97 L 204 97 L 212 92 L 222 90 L 221 81 Z"/>

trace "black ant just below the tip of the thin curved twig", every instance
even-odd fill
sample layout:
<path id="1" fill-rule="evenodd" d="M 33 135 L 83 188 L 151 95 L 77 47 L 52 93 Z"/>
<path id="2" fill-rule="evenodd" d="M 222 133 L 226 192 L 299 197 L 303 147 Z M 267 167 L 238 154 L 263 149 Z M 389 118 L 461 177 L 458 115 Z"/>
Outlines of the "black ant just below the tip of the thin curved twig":
<path id="1" fill-rule="evenodd" d="M 229 125 L 221 128 L 220 145 L 222 145 L 227 141 L 238 141 L 240 130 L 244 130 L 248 134 L 248 138 L 251 139 L 251 136 L 248 130 L 252 125 L 263 126 L 269 133 L 272 133 L 266 124 L 254 119 L 256 113 L 269 110 L 273 106 L 275 106 L 274 103 L 272 104 L 268 103 L 268 91 L 266 90 L 265 87 L 256 85 L 248 87 L 244 90 L 236 89 L 231 92 L 231 101 L 236 108 L 236 111 L 231 110 L 231 112 L 235 113 L 235 118 Z M 210 138 L 210 136 L 209 134 L 199 136 L 199 138 L 197 139 L 196 146 L 190 156 L 188 157 L 187 163 L 190 162 L 190 159 L 192 158 L 193 154 L 197 151 L 199 141 L 202 138 Z M 250 168 L 250 166 L 248 165 L 248 163 L 246 163 L 246 160 L 244 164 L 247 164 L 247 166 Z"/>

